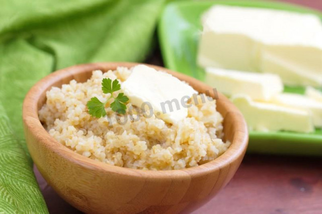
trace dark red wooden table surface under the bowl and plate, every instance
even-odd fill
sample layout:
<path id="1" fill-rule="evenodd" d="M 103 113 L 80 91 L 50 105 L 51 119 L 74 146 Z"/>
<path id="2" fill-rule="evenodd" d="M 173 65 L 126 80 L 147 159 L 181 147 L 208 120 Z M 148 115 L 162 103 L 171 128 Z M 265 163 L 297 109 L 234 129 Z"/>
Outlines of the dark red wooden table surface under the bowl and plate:
<path id="1" fill-rule="evenodd" d="M 322 0 L 283 1 L 322 11 Z M 162 64 L 159 51 L 147 63 Z M 50 213 L 80 213 L 35 173 Z M 322 214 L 322 157 L 247 154 L 228 185 L 193 213 Z"/>

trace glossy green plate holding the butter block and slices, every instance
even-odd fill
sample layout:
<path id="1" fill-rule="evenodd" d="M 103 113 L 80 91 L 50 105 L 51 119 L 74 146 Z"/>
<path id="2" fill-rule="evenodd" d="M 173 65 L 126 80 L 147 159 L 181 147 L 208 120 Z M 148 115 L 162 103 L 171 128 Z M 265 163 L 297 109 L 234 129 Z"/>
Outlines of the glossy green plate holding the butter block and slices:
<path id="1" fill-rule="evenodd" d="M 199 35 L 202 31 L 200 17 L 213 5 L 231 5 L 253 8 L 272 8 L 299 13 L 322 14 L 307 8 L 276 2 L 211 1 L 177 2 L 169 4 L 159 21 L 158 36 L 166 67 L 200 80 L 204 71 L 196 64 Z M 302 93 L 303 88 L 285 89 Z M 248 152 L 292 155 L 322 155 L 322 130 L 313 134 L 292 132 L 250 132 Z"/>

